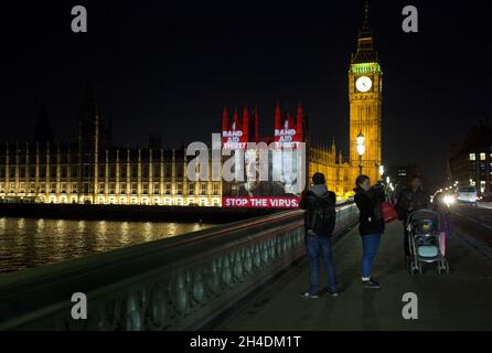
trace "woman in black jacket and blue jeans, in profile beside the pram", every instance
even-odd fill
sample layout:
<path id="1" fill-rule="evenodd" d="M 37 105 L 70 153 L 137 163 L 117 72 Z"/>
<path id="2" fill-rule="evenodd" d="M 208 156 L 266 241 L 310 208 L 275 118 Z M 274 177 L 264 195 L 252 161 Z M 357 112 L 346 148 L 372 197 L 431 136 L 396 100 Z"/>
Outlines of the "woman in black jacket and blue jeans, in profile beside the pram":
<path id="1" fill-rule="evenodd" d="M 355 180 L 355 204 L 360 211 L 359 231 L 362 237 L 362 282 L 364 288 L 379 288 L 379 284 L 371 276 L 371 269 L 381 244 L 385 222 L 382 202 L 385 201 L 381 186 L 371 186 L 367 175 L 359 175 Z"/>

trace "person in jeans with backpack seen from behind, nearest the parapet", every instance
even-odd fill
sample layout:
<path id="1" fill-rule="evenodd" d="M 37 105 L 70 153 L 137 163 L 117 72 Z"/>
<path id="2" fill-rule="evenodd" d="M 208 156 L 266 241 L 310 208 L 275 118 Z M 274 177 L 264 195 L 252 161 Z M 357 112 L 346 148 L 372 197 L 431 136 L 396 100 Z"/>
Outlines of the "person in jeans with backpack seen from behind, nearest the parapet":
<path id="1" fill-rule="evenodd" d="M 336 275 L 332 257 L 331 235 L 335 226 L 336 196 L 328 191 L 322 173 L 312 176 L 313 185 L 302 194 L 300 207 L 304 213 L 306 249 L 309 261 L 309 290 L 301 293 L 302 298 L 318 298 L 320 291 L 319 258 L 323 259 L 328 272 L 328 292 L 338 297 Z"/>

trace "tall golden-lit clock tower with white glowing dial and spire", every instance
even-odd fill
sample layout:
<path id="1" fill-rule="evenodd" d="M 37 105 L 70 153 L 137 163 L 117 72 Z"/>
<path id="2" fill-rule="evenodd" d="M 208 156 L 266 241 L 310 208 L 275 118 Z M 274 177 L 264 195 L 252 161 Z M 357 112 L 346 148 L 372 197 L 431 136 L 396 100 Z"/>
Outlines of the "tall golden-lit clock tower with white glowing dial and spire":
<path id="1" fill-rule="evenodd" d="M 368 23 L 368 4 L 359 33 L 357 51 L 352 55 L 349 69 L 350 99 L 350 162 L 352 180 L 359 175 L 360 156 L 357 136 L 364 136 L 365 151 L 362 156 L 362 173 L 374 183 L 379 180 L 382 164 L 382 103 L 383 71 L 374 49 L 373 34 Z"/>

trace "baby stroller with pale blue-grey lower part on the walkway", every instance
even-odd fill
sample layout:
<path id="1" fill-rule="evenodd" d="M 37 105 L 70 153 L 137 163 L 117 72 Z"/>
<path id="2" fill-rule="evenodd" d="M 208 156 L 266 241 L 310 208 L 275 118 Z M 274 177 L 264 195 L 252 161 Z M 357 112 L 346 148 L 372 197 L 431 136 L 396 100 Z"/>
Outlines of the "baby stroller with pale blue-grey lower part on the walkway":
<path id="1" fill-rule="evenodd" d="M 439 215 L 431 210 L 413 212 L 407 218 L 410 257 L 407 264 L 410 275 L 423 274 L 423 264 L 437 264 L 439 274 L 449 274 L 449 265 L 441 254 Z"/>

